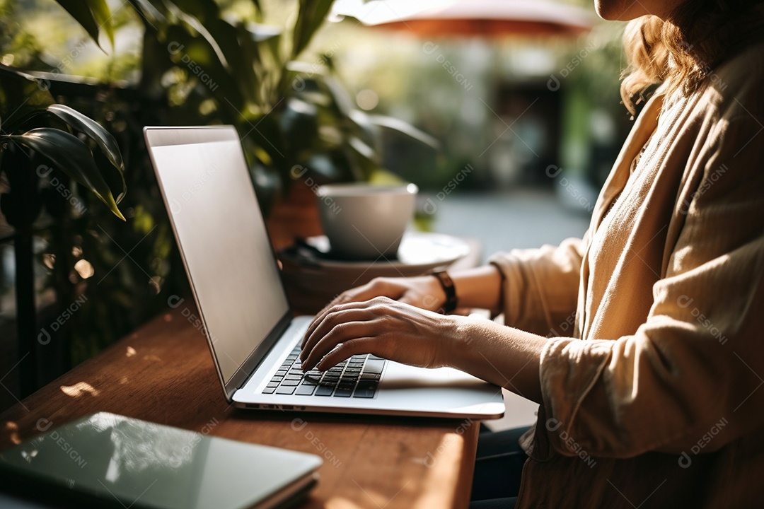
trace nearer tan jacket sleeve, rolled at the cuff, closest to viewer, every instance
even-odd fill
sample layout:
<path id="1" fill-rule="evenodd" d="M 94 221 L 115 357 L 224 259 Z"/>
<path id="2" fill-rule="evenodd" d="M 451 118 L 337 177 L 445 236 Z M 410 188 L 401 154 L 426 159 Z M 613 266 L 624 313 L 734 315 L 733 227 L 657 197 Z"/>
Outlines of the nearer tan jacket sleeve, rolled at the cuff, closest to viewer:
<path id="1" fill-rule="evenodd" d="M 727 143 L 677 204 L 684 225 L 646 321 L 615 340 L 545 346 L 537 451 L 707 453 L 764 424 L 764 168 L 760 140 L 751 141 L 759 127 L 727 127 Z"/>

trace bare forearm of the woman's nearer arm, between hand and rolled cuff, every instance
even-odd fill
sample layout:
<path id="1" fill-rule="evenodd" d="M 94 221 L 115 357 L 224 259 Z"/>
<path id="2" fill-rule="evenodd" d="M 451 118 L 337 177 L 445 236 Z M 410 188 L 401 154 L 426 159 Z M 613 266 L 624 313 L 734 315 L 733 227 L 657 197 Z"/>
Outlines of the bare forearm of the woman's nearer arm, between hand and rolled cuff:
<path id="1" fill-rule="evenodd" d="M 476 317 L 455 317 L 443 364 L 541 403 L 539 363 L 547 338 Z"/>

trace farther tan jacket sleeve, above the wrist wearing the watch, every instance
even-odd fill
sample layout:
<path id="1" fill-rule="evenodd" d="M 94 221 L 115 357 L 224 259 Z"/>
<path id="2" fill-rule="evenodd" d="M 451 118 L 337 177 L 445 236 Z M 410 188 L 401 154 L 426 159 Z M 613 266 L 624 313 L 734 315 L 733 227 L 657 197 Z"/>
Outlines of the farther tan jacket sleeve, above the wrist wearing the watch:
<path id="1" fill-rule="evenodd" d="M 505 324 L 546 337 L 572 334 L 587 239 L 490 256 L 503 279 Z"/>

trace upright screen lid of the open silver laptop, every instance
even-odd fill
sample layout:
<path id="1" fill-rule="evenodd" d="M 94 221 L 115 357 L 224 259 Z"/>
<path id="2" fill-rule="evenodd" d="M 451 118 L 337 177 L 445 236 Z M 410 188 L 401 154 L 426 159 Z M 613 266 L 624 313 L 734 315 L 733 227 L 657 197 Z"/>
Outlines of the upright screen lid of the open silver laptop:
<path id="1" fill-rule="evenodd" d="M 234 127 L 144 135 L 226 398 L 290 319 Z"/>

